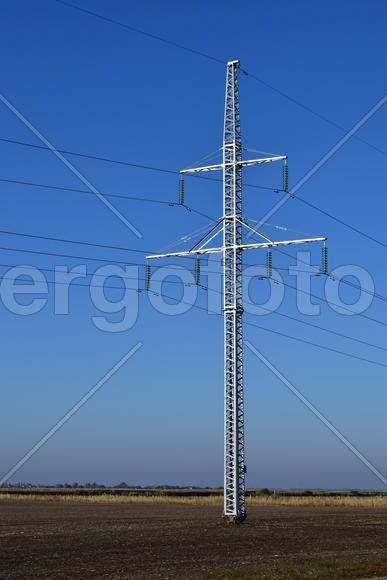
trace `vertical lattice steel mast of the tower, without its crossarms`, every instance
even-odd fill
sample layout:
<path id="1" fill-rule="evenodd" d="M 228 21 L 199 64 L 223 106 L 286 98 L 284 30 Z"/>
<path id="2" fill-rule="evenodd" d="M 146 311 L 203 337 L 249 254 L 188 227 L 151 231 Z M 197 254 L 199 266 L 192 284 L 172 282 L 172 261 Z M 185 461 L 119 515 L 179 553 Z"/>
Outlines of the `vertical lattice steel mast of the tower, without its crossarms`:
<path id="1" fill-rule="evenodd" d="M 242 138 L 237 68 L 227 65 L 223 132 L 224 516 L 243 520 Z"/>

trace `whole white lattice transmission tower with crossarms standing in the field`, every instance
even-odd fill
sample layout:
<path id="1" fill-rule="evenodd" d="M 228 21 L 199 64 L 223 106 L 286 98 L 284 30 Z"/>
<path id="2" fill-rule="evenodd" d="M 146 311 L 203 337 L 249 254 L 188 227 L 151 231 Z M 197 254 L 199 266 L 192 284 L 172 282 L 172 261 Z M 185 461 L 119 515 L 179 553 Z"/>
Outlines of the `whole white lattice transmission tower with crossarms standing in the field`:
<path id="1" fill-rule="evenodd" d="M 244 250 L 270 248 L 306 242 L 323 242 L 326 238 L 273 241 L 259 230 L 248 225 L 242 214 L 242 168 L 273 161 L 285 162 L 287 189 L 287 166 L 285 155 L 242 161 L 242 139 L 239 116 L 238 93 L 239 61 L 227 63 L 226 102 L 223 132 L 223 162 L 206 167 L 195 167 L 180 171 L 180 174 L 203 171 L 223 171 L 223 217 L 189 251 L 153 254 L 152 258 L 191 256 L 200 254 L 223 254 L 223 313 L 224 313 L 224 508 L 223 516 L 229 522 L 239 523 L 246 518 L 245 506 L 245 450 L 243 408 L 243 298 L 242 298 L 242 254 Z M 180 185 L 180 194 L 183 190 Z M 258 234 L 264 242 L 244 244 L 243 227 Z M 219 234 L 223 234 L 223 245 L 207 247 Z M 198 258 L 197 258 L 198 259 Z M 271 271 L 271 253 L 268 254 Z M 198 272 L 198 268 L 197 268 Z M 147 263 L 147 289 L 150 269 Z"/>

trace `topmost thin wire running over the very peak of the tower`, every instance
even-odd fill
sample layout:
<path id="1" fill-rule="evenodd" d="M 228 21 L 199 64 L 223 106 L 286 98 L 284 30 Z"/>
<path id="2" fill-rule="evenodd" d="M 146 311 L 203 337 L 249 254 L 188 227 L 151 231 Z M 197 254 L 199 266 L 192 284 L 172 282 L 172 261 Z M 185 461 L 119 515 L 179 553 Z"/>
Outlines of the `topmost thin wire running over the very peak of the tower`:
<path id="1" fill-rule="evenodd" d="M 149 32 L 146 32 L 144 30 L 141 30 L 140 28 L 136 28 L 134 26 L 130 26 L 129 24 L 125 24 L 123 22 L 120 22 L 119 20 L 116 20 L 114 18 L 109 18 L 108 16 L 103 16 L 101 14 L 98 14 L 97 12 L 93 12 L 92 10 L 88 10 L 86 8 L 81 8 L 80 6 L 77 6 L 76 4 L 72 4 L 70 2 L 66 2 L 65 0 L 56 0 L 56 2 L 58 2 L 59 4 L 63 4 L 64 6 L 67 6 L 69 8 L 73 8 L 74 10 L 77 10 L 78 12 L 83 12 L 84 14 L 88 14 L 89 16 L 94 16 L 95 18 L 98 18 L 98 19 L 103 20 L 105 22 L 109 22 L 110 24 L 115 24 L 117 26 L 120 26 L 121 28 L 125 28 L 127 30 L 130 30 L 131 32 L 137 32 L 138 34 L 142 34 L 143 36 L 146 36 L 148 38 L 152 38 L 154 40 L 158 40 L 159 42 L 163 42 L 165 44 L 169 44 L 170 46 L 174 46 L 175 48 L 180 48 L 181 50 L 184 50 L 186 52 L 190 52 L 192 54 L 196 54 L 198 56 L 201 56 L 203 58 L 206 58 L 208 60 L 217 62 L 218 64 L 222 64 L 222 65 L 227 64 L 225 60 L 220 59 L 220 58 L 217 58 L 217 57 L 215 57 L 215 56 L 213 56 L 211 54 L 208 54 L 206 52 L 202 52 L 200 50 L 196 50 L 196 49 L 193 49 L 193 48 L 189 48 L 188 46 L 185 46 L 185 45 L 180 44 L 178 42 L 174 42 L 174 41 L 169 40 L 167 38 L 164 38 L 162 36 L 158 36 L 156 34 L 151 34 Z M 263 80 L 262 78 L 258 77 L 257 75 L 251 73 L 250 71 L 247 71 L 246 69 L 242 69 L 242 68 L 241 68 L 241 72 L 245 76 L 247 76 L 248 78 L 251 78 L 251 79 L 257 81 L 258 83 L 260 83 L 261 85 L 263 85 L 266 88 L 270 89 L 271 91 L 274 91 L 275 93 L 277 93 L 278 95 L 284 97 L 285 99 L 287 99 L 291 103 L 297 105 L 298 107 L 300 107 L 304 111 L 307 111 L 308 113 L 311 113 L 312 115 L 314 115 L 318 119 L 324 121 L 325 123 L 328 123 L 332 127 L 335 127 L 336 129 L 339 129 L 340 131 L 343 131 L 344 133 L 347 133 L 348 129 L 346 129 L 345 127 L 342 127 L 341 125 L 339 125 L 339 123 L 336 123 L 335 121 L 332 121 L 331 119 L 328 119 L 328 117 L 325 117 L 321 113 L 318 113 L 317 111 L 315 111 L 314 109 L 312 109 L 308 105 L 305 105 L 301 101 L 295 99 L 294 97 L 291 97 L 290 95 L 288 95 L 284 91 L 282 91 L 282 90 L 278 89 L 277 87 L 273 86 L 272 84 L 266 82 L 265 80 Z M 379 147 L 376 147 L 375 145 L 373 145 L 372 143 L 369 143 L 365 139 L 362 139 L 361 137 L 358 137 L 357 135 L 353 135 L 352 137 L 355 138 L 357 141 L 360 141 L 361 143 L 364 143 L 365 145 L 368 145 L 368 147 L 371 147 L 372 149 L 374 149 L 375 151 L 378 151 L 382 155 L 387 156 L 387 152 L 386 151 L 383 151 L 383 149 L 380 149 Z"/>

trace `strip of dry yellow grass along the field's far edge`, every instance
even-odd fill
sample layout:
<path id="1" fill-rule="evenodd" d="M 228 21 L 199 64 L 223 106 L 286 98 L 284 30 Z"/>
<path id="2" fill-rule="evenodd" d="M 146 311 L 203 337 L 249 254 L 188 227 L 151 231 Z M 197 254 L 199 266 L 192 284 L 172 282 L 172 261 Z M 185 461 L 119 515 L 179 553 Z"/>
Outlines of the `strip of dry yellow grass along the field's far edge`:
<path id="1" fill-rule="evenodd" d="M 136 503 L 136 504 L 191 504 L 191 505 L 221 505 L 223 498 L 218 496 L 170 496 L 170 495 L 72 495 L 72 494 L 13 494 L 0 493 L 0 501 L 63 501 L 80 503 Z M 367 507 L 387 508 L 387 496 L 327 497 L 322 495 L 287 497 L 281 495 L 260 495 L 246 498 L 247 505 L 257 506 L 316 506 L 316 507 Z"/>

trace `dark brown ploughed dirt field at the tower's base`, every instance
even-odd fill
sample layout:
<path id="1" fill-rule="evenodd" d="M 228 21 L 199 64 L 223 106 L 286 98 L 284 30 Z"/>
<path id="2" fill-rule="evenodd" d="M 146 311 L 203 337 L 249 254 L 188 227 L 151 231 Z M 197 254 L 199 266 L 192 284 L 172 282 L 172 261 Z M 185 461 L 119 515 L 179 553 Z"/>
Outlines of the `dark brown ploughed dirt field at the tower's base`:
<path id="1" fill-rule="evenodd" d="M 387 509 L 0 502 L 0 578 L 387 576 Z"/>

